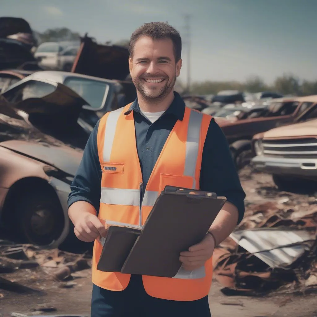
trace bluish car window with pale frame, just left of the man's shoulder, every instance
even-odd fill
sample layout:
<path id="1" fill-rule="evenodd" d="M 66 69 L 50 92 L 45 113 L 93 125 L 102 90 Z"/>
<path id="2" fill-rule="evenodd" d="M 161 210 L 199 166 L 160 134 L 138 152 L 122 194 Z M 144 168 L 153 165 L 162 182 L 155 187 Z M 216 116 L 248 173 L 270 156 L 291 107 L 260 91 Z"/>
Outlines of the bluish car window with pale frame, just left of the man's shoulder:
<path id="1" fill-rule="evenodd" d="M 74 90 L 94 109 L 102 107 L 105 103 L 104 98 L 106 96 L 108 84 L 104 81 L 68 77 L 64 81 L 64 85 Z"/>

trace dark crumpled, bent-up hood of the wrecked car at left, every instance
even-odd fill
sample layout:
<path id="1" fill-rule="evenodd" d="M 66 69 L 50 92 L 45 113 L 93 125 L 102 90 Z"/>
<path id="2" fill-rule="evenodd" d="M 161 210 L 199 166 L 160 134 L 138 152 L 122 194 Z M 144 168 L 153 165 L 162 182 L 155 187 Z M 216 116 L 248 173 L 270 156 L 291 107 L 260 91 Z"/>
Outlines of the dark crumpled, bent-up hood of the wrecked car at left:
<path id="1" fill-rule="evenodd" d="M 33 135 L 30 135 L 31 138 L 41 136 L 41 139 L 47 139 L 47 136 L 51 136 L 74 147 L 85 146 L 89 135 L 78 124 L 78 120 L 82 106 L 88 103 L 67 86 L 57 84 L 51 94 L 41 98 L 9 103 L 2 96 L 0 101 L 0 114 L 17 120 L 23 117 L 28 125 L 27 134 Z"/>

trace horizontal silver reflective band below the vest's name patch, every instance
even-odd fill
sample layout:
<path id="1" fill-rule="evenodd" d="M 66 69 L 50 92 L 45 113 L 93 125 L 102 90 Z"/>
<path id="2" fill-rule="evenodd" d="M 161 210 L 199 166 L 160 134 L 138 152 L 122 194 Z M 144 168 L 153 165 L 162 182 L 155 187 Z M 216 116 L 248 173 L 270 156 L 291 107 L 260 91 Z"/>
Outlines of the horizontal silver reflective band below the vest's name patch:
<path id="1" fill-rule="evenodd" d="M 110 205 L 139 206 L 140 191 L 138 189 L 101 187 L 100 203 Z"/>

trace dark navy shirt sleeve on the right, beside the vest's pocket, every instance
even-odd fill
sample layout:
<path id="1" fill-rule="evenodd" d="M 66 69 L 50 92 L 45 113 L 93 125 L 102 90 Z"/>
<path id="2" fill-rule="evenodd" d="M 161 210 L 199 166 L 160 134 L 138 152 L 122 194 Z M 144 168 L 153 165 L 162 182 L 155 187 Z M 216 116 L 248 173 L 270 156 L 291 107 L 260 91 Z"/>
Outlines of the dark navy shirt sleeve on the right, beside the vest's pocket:
<path id="1" fill-rule="evenodd" d="M 240 183 L 228 141 L 221 128 L 211 120 L 203 149 L 200 188 L 227 197 L 239 211 L 238 223 L 244 215 L 245 193 Z"/>

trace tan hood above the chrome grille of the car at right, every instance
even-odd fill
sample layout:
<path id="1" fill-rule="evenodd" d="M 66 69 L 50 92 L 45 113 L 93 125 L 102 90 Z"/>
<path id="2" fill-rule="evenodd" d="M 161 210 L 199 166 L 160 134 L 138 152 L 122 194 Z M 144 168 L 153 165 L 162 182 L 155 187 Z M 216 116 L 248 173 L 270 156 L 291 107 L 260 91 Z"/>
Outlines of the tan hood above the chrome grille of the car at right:
<path id="1" fill-rule="evenodd" d="M 271 129 L 264 133 L 264 138 L 288 138 L 307 135 L 317 136 L 317 119 Z"/>

